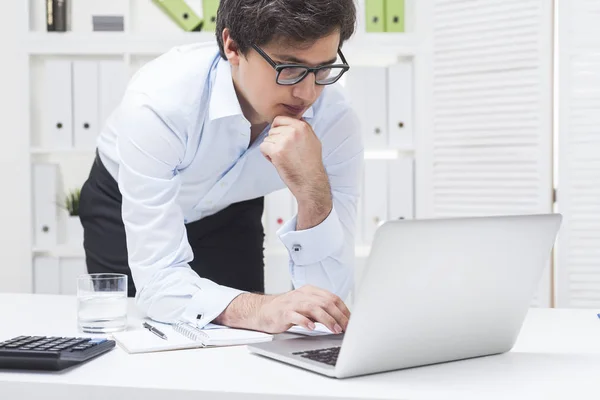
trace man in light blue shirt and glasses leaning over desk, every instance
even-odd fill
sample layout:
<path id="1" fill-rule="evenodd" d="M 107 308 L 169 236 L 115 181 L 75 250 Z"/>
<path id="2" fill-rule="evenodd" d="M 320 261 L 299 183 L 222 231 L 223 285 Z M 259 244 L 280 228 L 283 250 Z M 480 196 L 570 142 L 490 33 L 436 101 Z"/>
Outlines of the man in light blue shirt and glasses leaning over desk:
<path id="1" fill-rule="evenodd" d="M 158 321 L 342 332 L 363 146 L 331 84 L 354 25 L 353 0 L 221 0 L 218 49 L 143 67 L 82 188 L 89 272 L 128 274 Z M 263 196 L 285 186 L 298 213 L 278 235 L 295 290 L 264 295 Z"/>

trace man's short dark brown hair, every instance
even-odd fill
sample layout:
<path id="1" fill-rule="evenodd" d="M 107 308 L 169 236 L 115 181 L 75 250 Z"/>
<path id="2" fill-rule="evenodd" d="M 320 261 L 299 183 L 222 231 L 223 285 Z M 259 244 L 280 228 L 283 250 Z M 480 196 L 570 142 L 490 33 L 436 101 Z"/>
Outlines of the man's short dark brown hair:
<path id="1" fill-rule="evenodd" d="M 217 42 L 221 57 L 223 29 L 242 54 L 255 44 L 272 40 L 295 47 L 310 46 L 316 40 L 340 32 L 340 46 L 354 33 L 354 0 L 221 0 L 217 11 Z"/>

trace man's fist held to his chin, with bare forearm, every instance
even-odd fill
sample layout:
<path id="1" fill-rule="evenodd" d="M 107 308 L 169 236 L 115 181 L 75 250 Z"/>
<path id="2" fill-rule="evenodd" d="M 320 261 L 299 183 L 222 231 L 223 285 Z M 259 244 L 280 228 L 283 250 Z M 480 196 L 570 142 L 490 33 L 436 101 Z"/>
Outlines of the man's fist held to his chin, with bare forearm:
<path id="1" fill-rule="evenodd" d="M 312 127 L 303 120 L 277 117 L 260 150 L 298 201 L 296 229 L 309 229 L 323 222 L 333 201 L 321 141 Z"/>

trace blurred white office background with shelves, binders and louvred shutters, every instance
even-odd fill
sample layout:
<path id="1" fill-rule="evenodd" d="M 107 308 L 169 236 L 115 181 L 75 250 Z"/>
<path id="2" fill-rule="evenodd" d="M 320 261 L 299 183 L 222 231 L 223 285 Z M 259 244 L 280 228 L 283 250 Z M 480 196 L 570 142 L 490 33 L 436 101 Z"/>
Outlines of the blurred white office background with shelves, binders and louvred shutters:
<path id="1" fill-rule="evenodd" d="M 52 21 L 47 3 L 3 2 L 0 291 L 74 292 L 85 261 L 63 206 L 103 122 L 145 63 L 214 42 L 218 0 L 173 15 L 151 0 L 50 0 Z M 600 307 L 600 0 L 357 4 L 341 82 L 366 146 L 356 284 L 382 221 L 558 211 L 533 304 Z M 290 288 L 275 232 L 294 212 L 289 192 L 267 196 L 270 293 Z"/>

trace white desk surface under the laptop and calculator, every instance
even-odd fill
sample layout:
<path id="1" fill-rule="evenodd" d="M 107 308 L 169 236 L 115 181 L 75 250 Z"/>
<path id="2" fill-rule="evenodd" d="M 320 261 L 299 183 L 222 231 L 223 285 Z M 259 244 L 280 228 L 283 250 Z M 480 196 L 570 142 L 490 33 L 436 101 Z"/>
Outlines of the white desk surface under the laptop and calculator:
<path id="1" fill-rule="evenodd" d="M 0 340 L 82 336 L 75 310 L 74 297 L 0 294 Z M 598 399 L 600 320 L 594 311 L 533 309 L 510 353 L 346 380 L 252 355 L 245 347 L 137 355 L 116 348 L 61 373 L 2 371 L 0 398 Z M 139 326 L 139 319 L 130 316 L 130 324 Z"/>

